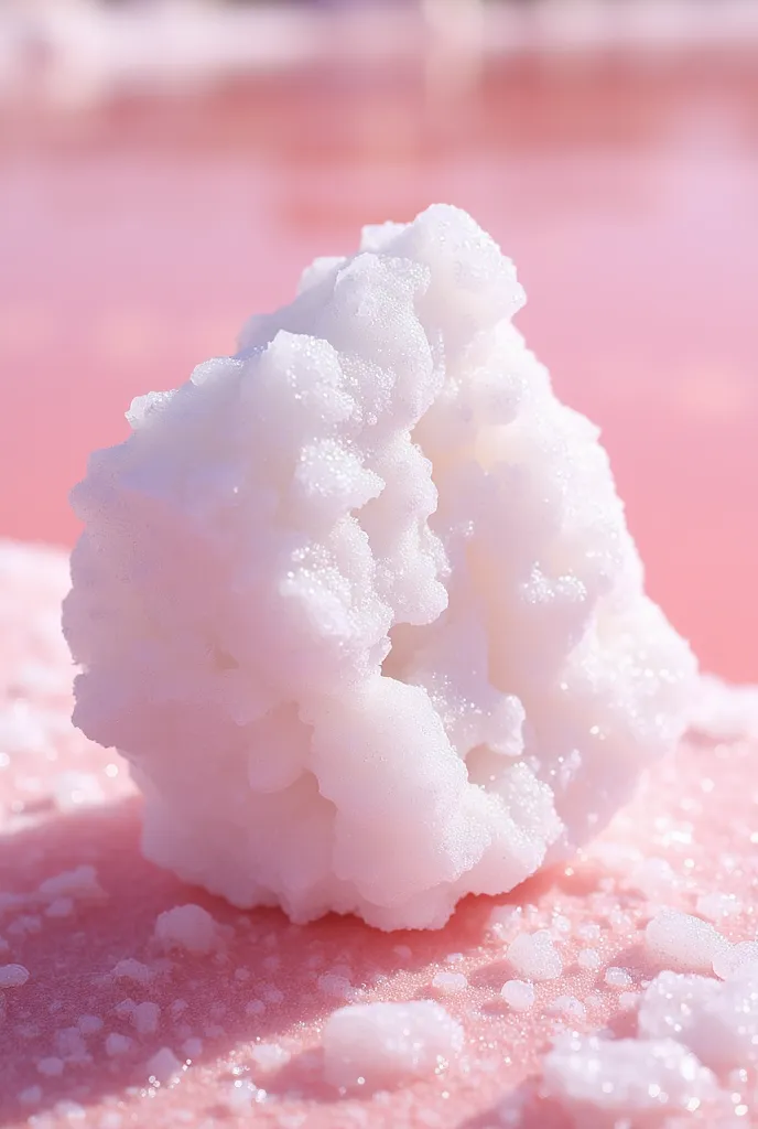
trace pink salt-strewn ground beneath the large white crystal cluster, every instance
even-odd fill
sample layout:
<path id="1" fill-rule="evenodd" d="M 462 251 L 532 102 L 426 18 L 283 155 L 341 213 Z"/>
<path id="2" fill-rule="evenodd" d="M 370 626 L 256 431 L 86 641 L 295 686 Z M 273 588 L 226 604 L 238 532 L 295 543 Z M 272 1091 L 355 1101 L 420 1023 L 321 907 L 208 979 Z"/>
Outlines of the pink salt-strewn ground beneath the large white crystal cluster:
<path id="1" fill-rule="evenodd" d="M 14 737 L 0 770 L 0 961 L 28 972 L 9 973 L 17 982 L 0 992 L 5 1123 L 211 1129 L 221 1114 L 230 1129 L 758 1123 L 758 717 L 744 735 L 732 721 L 725 738 L 731 690 L 719 691 L 715 741 L 700 716 L 699 732 L 591 847 L 509 898 L 466 899 L 435 933 L 388 935 L 351 918 L 293 926 L 272 909 L 239 913 L 144 861 L 122 762 L 68 720 L 72 672 L 56 612 L 64 557 L 3 545 L 0 576 L 0 727 Z M 92 806 L 88 788 L 81 806 L 61 812 L 64 772 L 104 798 Z M 45 917 L 64 887 L 72 914 Z M 647 924 L 697 916 L 714 894 L 733 899 L 717 930 L 740 944 L 715 946 L 717 975 L 661 970 Z M 676 933 L 681 919 L 673 924 Z M 563 972 L 535 983 L 534 1004 L 518 1012 L 501 995 L 514 979 L 508 949 L 539 930 Z M 211 947 L 191 952 L 193 937 Z M 691 945 L 680 947 L 691 960 Z M 627 972 L 631 988 L 607 983 L 610 969 Z M 442 997 L 440 974 L 467 983 Z M 325 1076 L 324 1031 L 345 1000 L 318 989 L 325 977 L 349 983 L 359 1006 L 434 1001 L 460 1025 L 462 1048 L 449 1060 L 433 1052 L 430 1073 L 394 1088 L 341 1095 Z M 160 1009 L 138 1013 L 157 1016 L 155 1031 L 134 1024 L 144 1003 Z M 381 1033 L 369 1033 L 370 1066 Z M 615 1040 L 625 1042 L 615 1050 Z M 655 1100 L 635 1088 L 643 1068 Z"/>

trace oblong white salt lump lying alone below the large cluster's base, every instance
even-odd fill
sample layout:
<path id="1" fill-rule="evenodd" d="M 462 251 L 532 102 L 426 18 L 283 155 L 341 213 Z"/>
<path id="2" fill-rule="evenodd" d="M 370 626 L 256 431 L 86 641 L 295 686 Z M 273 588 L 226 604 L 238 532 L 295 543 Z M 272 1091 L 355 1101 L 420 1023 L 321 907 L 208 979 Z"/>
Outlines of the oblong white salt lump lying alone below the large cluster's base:
<path id="1" fill-rule="evenodd" d="M 439 1004 L 355 1004 L 324 1025 L 324 1071 L 338 1088 L 371 1093 L 434 1074 L 464 1045 L 464 1031 Z"/>

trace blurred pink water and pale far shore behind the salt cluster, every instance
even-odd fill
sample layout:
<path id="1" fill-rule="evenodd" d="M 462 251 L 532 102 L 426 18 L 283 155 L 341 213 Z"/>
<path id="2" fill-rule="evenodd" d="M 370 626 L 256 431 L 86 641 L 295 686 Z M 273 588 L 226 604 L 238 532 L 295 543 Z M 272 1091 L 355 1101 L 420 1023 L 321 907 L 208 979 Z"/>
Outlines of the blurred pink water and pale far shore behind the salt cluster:
<path id="1" fill-rule="evenodd" d="M 433 201 L 515 260 L 653 596 L 758 681 L 758 0 L 0 0 L 0 536 Z"/>

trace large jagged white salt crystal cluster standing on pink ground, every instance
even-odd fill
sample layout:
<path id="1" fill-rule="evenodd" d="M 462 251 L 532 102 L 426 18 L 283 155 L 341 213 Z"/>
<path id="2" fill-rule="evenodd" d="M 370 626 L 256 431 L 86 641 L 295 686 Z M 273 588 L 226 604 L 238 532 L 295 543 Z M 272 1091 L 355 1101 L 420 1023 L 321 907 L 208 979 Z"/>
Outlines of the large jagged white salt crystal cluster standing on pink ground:
<path id="1" fill-rule="evenodd" d="M 679 737 L 694 660 L 522 301 L 455 208 L 368 228 L 91 457 L 74 719 L 131 761 L 155 861 L 298 921 L 440 927 Z"/>

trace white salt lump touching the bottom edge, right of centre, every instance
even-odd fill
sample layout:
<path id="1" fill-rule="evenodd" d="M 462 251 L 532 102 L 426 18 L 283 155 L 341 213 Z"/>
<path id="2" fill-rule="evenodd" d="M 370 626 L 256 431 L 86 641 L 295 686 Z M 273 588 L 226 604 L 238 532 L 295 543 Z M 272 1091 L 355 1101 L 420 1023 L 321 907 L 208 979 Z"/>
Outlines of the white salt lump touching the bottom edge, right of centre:
<path id="1" fill-rule="evenodd" d="M 717 1092 L 713 1074 L 671 1039 L 559 1036 L 544 1061 L 545 1088 L 578 1129 L 661 1124 Z M 660 1120 L 659 1120 L 660 1118 Z"/>

